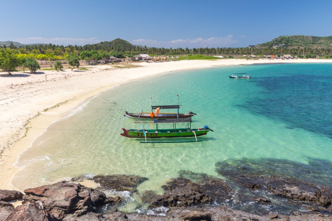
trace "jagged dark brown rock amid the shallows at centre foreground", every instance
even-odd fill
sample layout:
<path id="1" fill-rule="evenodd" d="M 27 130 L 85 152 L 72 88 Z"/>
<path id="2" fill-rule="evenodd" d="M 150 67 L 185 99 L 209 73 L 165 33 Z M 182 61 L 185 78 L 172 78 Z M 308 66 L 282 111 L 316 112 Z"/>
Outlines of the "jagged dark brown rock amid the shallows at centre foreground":
<path id="1" fill-rule="evenodd" d="M 226 182 L 216 178 L 209 178 L 200 184 L 193 183 L 186 178 L 176 178 L 163 188 L 166 192 L 162 196 L 152 196 L 150 206 L 188 207 L 196 204 L 207 204 L 211 201 L 221 203 L 230 200 L 234 194 Z"/>

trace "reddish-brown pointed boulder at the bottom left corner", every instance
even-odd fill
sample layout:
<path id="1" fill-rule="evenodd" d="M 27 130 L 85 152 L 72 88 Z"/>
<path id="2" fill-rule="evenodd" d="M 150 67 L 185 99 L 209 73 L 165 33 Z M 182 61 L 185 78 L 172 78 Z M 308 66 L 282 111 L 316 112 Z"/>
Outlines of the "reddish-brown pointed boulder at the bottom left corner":
<path id="1" fill-rule="evenodd" d="M 5 221 L 56 221 L 45 210 L 41 201 L 27 202 L 15 208 Z"/>

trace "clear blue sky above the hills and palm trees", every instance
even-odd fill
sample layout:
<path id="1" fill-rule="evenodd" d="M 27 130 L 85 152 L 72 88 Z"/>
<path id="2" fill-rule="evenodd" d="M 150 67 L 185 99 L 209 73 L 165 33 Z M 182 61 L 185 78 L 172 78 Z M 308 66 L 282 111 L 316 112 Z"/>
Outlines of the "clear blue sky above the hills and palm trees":
<path id="1" fill-rule="evenodd" d="M 332 0 L 2 1 L 0 41 L 85 45 L 121 38 L 164 48 L 246 47 L 332 35 Z"/>

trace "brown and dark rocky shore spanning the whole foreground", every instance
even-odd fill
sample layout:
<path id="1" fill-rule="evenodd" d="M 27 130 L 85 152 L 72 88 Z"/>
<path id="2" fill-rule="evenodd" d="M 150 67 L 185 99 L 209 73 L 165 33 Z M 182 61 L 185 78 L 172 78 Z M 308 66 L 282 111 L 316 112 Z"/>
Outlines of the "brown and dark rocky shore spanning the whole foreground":
<path id="1" fill-rule="evenodd" d="M 183 177 L 175 178 L 163 186 L 165 192 L 162 196 L 151 191 L 146 192 L 142 198 L 144 203 L 150 204 L 146 213 L 121 212 L 115 209 L 122 201 L 120 197 L 107 197 L 101 191 L 80 184 L 59 182 L 25 190 L 23 204 L 15 209 L 12 204 L 0 201 L 0 221 L 332 221 L 331 191 L 328 187 L 318 187 L 304 181 L 281 177 L 236 174 L 232 177 L 234 183 L 231 183 L 232 187 L 237 185 L 237 191 L 234 191 L 229 182 L 218 178 L 194 173 L 183 173 L 183 176 L 196 177 L 197 179 L 193 180 L 197 183 Z M 137 194 L 137 185 L 145 179 L 122 175 L 96 178 L 105 185 L 102 188 L 131 190 L 134 194 Z M 120 184 L 122 181 L 124 184 Z M 245 191 L 239 193 L 240 189 L 247 191 L 247 194 Z M 247 202 L 250 202 L 250 206 L 257 204 L 262 208 L 273 208 L 274 200 L 260 193 L 284 197 L 280 198 L 283 199 L 283 204 L 286 197 L 291 198 L 294 205 L 296 200 L 308 200 L 311 207 L 299 206 L 300 209 L 294 209 L 289 213 L 283 213 L 281 210 L 281 214 L 260 213 L 256 208 L 252 213 L 240 210 L 242 204 Z M 227 203 L 234 208 L 223 205 Z M 236 207 L 236 203 L 241 206 Z M 303 201 L 298 203 L 301 205 Z M 105 208 L 105 205 L 108 211 L 98 213 L 98 206 Z M 310 211 L 304 212 L 303 208 Z"/>

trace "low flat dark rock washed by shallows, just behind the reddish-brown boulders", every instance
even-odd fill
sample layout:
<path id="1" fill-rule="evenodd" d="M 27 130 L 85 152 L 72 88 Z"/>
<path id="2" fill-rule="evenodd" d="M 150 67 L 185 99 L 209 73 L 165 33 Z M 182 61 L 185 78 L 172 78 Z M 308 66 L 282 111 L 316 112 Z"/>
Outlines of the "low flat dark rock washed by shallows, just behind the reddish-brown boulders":
<path id="1" fill-rule="evenodd" d="M 99 183 L 102 188 L 115 189 L 117 191 L 135 192 L 136 188 L 142 182 L 148 180 L 146 177 L 127 176 L 127 175 L 98 175 L 94 176 L 92 180 Z"/>

